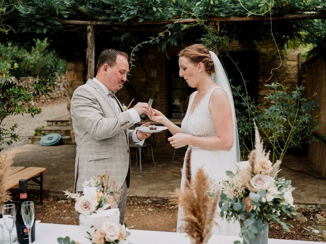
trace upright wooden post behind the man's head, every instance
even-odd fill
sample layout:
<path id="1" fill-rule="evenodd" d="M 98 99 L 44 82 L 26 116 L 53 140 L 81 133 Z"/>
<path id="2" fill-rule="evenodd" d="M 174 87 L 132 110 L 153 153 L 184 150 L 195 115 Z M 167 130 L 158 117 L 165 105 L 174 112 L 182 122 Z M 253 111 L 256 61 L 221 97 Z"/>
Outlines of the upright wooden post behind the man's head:
<path id="1" fill-rule="evenodd" d="M 87 25 L 87 79 L 95 76 L 95 35 L 94 25 Z"/>

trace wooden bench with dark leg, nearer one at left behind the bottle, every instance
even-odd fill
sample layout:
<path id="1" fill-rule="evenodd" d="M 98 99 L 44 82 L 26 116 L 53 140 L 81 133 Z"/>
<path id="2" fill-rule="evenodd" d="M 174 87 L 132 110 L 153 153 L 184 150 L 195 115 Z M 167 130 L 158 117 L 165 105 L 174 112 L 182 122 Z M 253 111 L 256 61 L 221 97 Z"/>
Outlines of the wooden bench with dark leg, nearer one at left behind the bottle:
<path id="1" fill-rule="evenodd" d="M 19 185 L 20 179 L 25 179 L 26 181 L 33 180 L 37 185 L 40 186 L 40 201 L 43 204 L 43 172 L 46 168 L 41 167 L 10 167 L 9 169 L 9 180 L 6 183 L 6 191 Z"/>

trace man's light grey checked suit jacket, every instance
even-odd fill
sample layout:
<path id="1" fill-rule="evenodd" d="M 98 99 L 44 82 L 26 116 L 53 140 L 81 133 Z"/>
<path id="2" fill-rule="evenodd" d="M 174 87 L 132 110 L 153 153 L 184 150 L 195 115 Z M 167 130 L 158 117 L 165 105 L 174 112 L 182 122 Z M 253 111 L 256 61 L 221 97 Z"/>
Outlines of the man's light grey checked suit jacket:
<path id="1" fill-rule="evenodd" d="M 122 108 L 119 101 L 118 104 Z M 74 91 L 70 112 L 77 144 L 74 190 L 83 191 L 86 179 L 96 179 L 107 170 L 119 186 L 126 179 L 129 187 L 132 130 L 128 128 L 133 125 L 130 114 L 118 113 L 114 102 L 92 79 Z"/>

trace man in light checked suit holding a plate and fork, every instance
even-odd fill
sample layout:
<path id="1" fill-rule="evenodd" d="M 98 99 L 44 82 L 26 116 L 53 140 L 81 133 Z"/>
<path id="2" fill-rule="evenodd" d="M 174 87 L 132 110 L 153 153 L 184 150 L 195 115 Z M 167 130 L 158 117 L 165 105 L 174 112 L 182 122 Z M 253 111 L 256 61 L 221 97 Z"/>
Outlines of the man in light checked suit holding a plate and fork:
<path id="1" fill-rule="evenodd" d="M 128 54 L 105 49 L 97 62 L 97 74 L 79 86 L 71 98 L 71 119 L 77 145 L 74 191 L 83 191 L 83 182 L 111 171 L 122 186 L 120 223 L 123 224 L 130 185 L 129 142 L 142 144 L 151 134 L 129 130 L 140 114 L 151 115 L 147 103 L 124 111 L 115 96 L 127 80 Z M 146 126 L 146 125 L 145 125 Z"/>

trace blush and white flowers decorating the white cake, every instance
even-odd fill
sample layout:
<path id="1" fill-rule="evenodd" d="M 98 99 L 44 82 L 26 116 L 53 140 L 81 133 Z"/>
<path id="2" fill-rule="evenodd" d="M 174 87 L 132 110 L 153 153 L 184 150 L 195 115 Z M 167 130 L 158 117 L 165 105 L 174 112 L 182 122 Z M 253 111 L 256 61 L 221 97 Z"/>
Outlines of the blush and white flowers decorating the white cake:
<path id="1" fill-rule="evenodd" d="M 108 171 L 104 175 L 98 175 L 96 180 L 85 180 L 82 196 L 78 192 L 71 193 L 64 191 L 64 193 L 67 195 L 67 198 L 76 200 L 76 214 L 92 215 L 100 210 L 117 208 L 119 205 L 118 199 L 120 199 L 121 195 L 121 187 L 116 185 L 116 180 L 110 180 L 110 171 Z M 86 238 L 90 239 L 92 244 L 117 244 L 130 235 L 126 227 L 126 225 L 106 221 L 103 222 L 99 229 L 95 230 L 93 235 L 87 232 L 88 235 Z M 58 242 L 62 244 L 78 244 L 77 241 L 70 240 L 69 236 L 65 238 L 59 237 Z"/>

